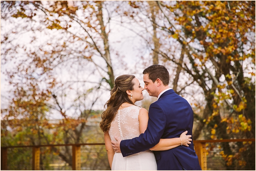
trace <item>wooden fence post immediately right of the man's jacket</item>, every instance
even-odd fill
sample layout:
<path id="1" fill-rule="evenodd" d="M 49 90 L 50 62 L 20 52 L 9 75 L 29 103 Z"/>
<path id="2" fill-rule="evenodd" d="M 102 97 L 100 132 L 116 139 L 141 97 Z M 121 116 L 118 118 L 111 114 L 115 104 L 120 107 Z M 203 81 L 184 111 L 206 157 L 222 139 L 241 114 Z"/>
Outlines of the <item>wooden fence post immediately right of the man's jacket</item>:
<path id="1" fill-rule="evenodd" d="M 196 155 L 199 160 L 199 164 L 202 170 L 207 170 L 207 159 L 206 159 L 206 148 L 205 143 L 196 143 L 194 142 L 194 148 L 196 151 Z"/>

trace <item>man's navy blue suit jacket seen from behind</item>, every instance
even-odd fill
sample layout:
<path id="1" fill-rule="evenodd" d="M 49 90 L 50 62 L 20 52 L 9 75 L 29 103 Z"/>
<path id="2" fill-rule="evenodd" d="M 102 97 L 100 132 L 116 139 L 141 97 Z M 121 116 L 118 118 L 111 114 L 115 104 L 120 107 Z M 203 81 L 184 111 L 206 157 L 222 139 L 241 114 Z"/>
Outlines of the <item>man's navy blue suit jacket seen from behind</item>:
<path id="1" fill-rule="evenodd" d="M 164 92 L 150 105 L 148 116 L 148 128 L 144 134 L 121 141 L 120 149 L 124 157 L 154 147 L 160 138 L 180 137 L 186 130 L 187 135 L 192 135 L 193 110 L 187 100 L 173 89 Z M 157 170 L 201 170 L 193 141 L 189 147 L 178 146 L 166 151 L 154 151 L 154 154 Z"/>

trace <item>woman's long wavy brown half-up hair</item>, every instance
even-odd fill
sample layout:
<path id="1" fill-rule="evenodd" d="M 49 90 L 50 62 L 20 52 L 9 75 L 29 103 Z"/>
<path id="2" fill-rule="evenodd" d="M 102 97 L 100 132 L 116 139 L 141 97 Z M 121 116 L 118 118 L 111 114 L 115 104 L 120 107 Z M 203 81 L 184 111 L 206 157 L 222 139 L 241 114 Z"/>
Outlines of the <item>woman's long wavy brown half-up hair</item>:
<path id="1" fill-rule="evenodd" d="M 109 130 L 110 123 L 114 120 L 117 110 L 123 103 L 127 102 L 134 105 L 126 93 L 126 90 L 133 90 L 134 82 L 132 80 L 134 78 L 134 75 L 120 75 L 116 78 L 115 86 L 110 92 L 110 99 L 104 105 L 106 110 L 101 114 L 100 129 L 104 133 Z"/>

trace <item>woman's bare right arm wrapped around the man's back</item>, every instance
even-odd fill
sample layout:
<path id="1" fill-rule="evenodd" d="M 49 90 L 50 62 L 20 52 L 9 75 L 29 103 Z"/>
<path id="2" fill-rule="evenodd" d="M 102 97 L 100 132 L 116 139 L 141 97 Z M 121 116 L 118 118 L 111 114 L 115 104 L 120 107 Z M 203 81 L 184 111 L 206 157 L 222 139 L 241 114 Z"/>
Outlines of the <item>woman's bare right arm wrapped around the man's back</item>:
<path id="1" fill-rule="evenodd" d="M 148 127 L 148 111 L 144 108 L 140 109 L 139 123 L 140 123 L 139 128 L 140 128 L 140 134 L 141 134 L 141 133 L 144 133 Z M 154 147 L 152 147 L 150 150 L 153 150 L 153 151 L 169 150 L 181 145 L 181 141 L 182 141 L 182 145 L 188 146 L 188 144 L 191 144 L 190 141 L 192 141 L 192 139 L 190 139 L 191 135 L 186 135 L 186 134 L 187 134 L 187 131 L 183 132 L 180 135 L 181 140 L 180 138 L 160 139 L 159 143 L 156 144 Z"/>

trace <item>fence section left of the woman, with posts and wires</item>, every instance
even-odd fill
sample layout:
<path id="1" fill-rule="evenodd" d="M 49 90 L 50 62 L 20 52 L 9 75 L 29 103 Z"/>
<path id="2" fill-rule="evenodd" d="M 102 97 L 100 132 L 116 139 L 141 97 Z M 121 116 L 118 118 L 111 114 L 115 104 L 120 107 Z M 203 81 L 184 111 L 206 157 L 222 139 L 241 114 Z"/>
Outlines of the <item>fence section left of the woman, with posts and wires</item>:
<path id="1" fill-rule="evenodd" d="M 27 155 L 26 159 L 19 158 L 22 168 L 13 166 L 14 153 Z M 24 160 L 30 167 L 24 168 Z M 110 167 L 104 143 L 84 143 L 1 147 L 1 170 L 110 170 Z"/>

